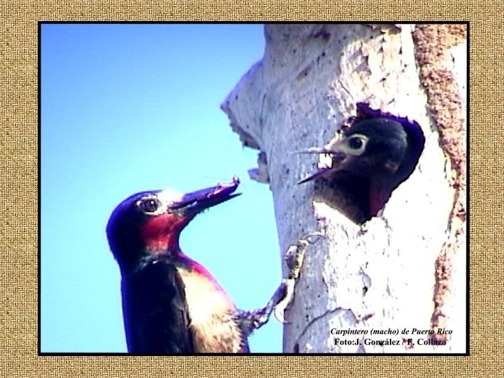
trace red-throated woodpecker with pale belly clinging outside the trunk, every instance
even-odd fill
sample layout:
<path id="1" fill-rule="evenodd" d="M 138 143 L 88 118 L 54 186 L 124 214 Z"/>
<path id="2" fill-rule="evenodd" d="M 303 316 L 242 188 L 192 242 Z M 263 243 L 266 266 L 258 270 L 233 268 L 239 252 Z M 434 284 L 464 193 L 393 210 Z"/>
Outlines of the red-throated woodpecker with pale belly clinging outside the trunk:
<path id="1" fill-rule="evenodd" d="M 141 192 L 113 211 L 107 237 L 121 270 L 130 353 L 249 352 L 247 336 L 267 321 L 274 303 L 263 309 L 267 314 L 237 310 L 215 278 L 179 246 L 184 227 L 239 195 L 238 185 L 233 178 L 185 195 Z"/>

